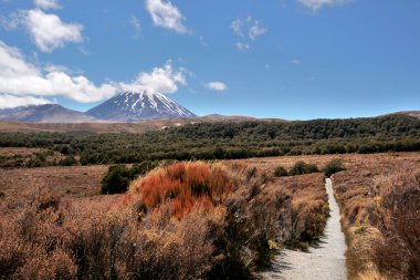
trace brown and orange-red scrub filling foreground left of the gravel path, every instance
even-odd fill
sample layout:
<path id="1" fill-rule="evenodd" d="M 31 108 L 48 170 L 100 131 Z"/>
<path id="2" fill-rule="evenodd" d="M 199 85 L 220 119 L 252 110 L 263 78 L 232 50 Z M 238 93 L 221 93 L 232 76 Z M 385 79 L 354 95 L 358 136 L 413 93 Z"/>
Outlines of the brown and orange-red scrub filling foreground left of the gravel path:
<path id="1" fill-rule="evenodd" d="M 39 178 L 25 186 L 3 178 L 0 278 L 250 279 L 281 247 L 314 242 L 328 211 L 319 173 L 273 178 L 246 163 L 176 163 L 113 196 L 70 194 L 40 176 L 73 168 L 19 169 Z"/>

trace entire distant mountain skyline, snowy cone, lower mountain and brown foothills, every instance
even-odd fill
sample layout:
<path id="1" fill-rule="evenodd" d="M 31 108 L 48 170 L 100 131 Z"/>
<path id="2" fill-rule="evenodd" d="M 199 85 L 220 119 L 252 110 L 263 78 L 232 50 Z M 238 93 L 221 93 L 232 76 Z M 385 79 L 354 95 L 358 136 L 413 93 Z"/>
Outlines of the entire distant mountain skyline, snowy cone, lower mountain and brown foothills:
<path id="1" fill-rule="evenodd" d="M 395 112 L 374 116 L 372 118 L 389 115 L 408 115 L 420 118 L 420 111 Z M 146 91 L 140 93 L 122 92 L 96 107 L 91 108 L 86 113 L 65 108 L 59 104 L 0 108 L 0 132 L 19 131 L 19 127 L 21 127 L 23 131 L 137 133 L 193 123 L 235 123 L 249 121 L 291 122 L 281 118 L 255 118 L 241 115 L 229 116 L 217 113 L 206 116 L 197 116 L 189 110 L 168 98 L 166 95 L 159 93 L 151 94 Z M 124 123 L 134 122 L 140 123 L 136 127 L 128 127 L 129 125 L 126 127 L 124 125 Z M 40 126 L 36 127 L 33 123 L 40 123 Z M 103 123 L 107 124 L 105 125 Z"/>

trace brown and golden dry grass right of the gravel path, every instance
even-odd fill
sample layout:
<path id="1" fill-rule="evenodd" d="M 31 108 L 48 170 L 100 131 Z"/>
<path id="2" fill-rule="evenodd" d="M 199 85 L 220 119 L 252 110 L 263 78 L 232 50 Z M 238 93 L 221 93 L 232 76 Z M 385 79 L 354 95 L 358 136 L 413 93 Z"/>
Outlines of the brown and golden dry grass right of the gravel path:
<path id="1" fill-rule="evenodd" d="M 333 176 L 351 279 L 419 279 L 419 158 L 369 156 Z"/>

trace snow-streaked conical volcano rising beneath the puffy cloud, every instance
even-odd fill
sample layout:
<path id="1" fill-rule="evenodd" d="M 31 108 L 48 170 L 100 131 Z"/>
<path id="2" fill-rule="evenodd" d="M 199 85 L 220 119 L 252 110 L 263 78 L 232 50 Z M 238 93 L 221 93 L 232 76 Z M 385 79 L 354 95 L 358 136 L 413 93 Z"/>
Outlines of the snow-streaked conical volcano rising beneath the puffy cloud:
<path id="1" fill-rule="evenodd" d="M 153 118 L 195 117 L 196 115 L 160 93 L 122 92 L 86 112 L 93 117 L 115 122 Z"/>

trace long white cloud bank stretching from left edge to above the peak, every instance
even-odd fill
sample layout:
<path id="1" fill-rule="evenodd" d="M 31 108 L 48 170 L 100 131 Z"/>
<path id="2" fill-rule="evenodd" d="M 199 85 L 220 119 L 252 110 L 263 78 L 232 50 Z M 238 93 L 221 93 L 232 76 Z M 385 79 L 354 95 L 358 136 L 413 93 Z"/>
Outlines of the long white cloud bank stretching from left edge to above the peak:
<path id="1" fill-rule="evenodd" d="M 95 84 L 86 76 L 72 73 L 65 66 L 38 66 L 21 51 L 0 41 L 0 107 L 52 103 L 50 97 L 66 97 L 81 103 L 107 100 L 119 91 L 175 93 L 187 85 L 186 69 L 175 69 L 171 61 L 140 72 L 130 83 L 106 82 Z"/>

